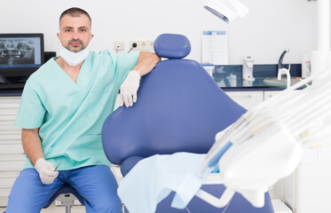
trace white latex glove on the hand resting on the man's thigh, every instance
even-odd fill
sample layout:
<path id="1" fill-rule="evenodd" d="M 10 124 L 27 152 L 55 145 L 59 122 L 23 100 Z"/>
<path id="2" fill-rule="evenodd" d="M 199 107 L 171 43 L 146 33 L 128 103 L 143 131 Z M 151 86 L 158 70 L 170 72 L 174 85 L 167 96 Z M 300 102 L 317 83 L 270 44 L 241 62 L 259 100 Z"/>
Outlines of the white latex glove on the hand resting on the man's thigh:
<path id="1" fill-rule="evenodd" d="M 49 185 L 58 177 L 59 171 L 54 171 L 53 164 L 46 162 L 43 158 L 39 158 L 35 162 L 35 170 L 39 173 L 39 177 L 43 184 Z"/>

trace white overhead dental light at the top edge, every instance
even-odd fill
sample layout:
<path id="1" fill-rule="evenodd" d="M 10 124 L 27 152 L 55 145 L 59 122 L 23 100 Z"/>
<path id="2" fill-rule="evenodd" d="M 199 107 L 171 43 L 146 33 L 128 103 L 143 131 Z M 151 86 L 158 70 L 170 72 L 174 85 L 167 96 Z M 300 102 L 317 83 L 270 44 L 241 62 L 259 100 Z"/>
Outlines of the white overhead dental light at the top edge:
<path id="1" fill-rule="evenodd" d="M 238 0 L 209 0 L 204 8 L 227 23 L 248 13 L 248 8 Z"/>

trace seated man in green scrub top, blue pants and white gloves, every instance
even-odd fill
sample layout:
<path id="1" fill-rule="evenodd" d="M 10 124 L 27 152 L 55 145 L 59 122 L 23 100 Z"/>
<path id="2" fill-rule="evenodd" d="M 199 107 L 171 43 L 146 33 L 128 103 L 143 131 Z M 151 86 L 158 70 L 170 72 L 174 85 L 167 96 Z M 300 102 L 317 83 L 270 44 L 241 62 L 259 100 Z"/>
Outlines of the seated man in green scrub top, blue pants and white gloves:
<path id="1" fill-rule="evenodd" d="M 160 58 L 148 51 L 87 51 L 91 17 L 80 8 L 61 14 L 58 36 L 60 57 L 31 75 L 22 93 L 15 124 L 22 128 L 27 162 L 6 212 L 39 212 L 66 183 L 83 196 L 87 212 L 122 212 L 101 128 L 120 88 L 123 104 L 132 106 L 140 76 Z"/>

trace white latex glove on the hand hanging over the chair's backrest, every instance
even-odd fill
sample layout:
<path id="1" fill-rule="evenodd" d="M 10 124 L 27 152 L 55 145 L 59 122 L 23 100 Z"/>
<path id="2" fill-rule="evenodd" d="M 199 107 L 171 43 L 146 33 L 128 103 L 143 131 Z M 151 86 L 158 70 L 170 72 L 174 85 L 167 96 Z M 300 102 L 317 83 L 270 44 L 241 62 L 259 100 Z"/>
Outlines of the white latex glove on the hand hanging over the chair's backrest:
<path id="1" fill-rule="evenodd" d="M 137 101 L 137 91 L 140 83 L 140 74 L 137 71 L 131 70 L 121 85 L 122 103 L 125 106 L 133 106 Z"/>

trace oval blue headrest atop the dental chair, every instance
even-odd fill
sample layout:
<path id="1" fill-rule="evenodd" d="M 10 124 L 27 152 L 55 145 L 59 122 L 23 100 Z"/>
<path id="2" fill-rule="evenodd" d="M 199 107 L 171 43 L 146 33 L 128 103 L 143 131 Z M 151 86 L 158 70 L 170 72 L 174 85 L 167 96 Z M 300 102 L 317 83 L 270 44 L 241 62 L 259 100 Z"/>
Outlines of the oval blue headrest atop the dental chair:
<path id="1" fill-rule="evenodd" d="M 154 51 L 162 58 L 182 59 L 191 51 L 191 43 L 186 36 L 162 34 L 154 41 Z"/>

